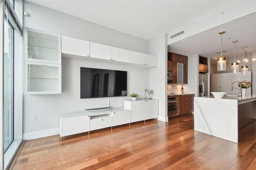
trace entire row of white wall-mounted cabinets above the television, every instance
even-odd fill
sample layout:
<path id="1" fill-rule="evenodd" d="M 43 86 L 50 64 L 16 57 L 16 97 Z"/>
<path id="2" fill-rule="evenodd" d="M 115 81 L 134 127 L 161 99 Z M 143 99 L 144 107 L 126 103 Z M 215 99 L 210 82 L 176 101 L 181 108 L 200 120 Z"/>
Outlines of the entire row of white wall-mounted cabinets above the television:
<path id="1" fill-rule="evenodd" d="M 94 42 L 87 42 L 75 38 L 62 36 L 62 57 L 77 57 L 102 62 L 118 62 L 152 68 L 157 67 L 157 57 L 126 49 L 111 47 Z"/>

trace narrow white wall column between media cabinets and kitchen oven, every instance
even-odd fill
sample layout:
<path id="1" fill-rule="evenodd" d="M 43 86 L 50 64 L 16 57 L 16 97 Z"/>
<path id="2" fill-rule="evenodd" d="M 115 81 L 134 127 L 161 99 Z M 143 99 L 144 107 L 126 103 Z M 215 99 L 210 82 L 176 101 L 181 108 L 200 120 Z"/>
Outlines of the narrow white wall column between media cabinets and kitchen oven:
<path id="1" fill-rule="evenodd" d="M 150 41 L 150 54 L 157 56 L 157 65 L 150 69 L 150 89 L 158 99 L 158 120 L 167 122 L 167 34 Z"/>

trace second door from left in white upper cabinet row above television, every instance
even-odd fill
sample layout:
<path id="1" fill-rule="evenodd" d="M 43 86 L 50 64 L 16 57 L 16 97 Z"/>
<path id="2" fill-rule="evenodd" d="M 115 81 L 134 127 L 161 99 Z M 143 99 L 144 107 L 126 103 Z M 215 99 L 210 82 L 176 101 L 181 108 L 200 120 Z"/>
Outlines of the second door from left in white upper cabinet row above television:
<path id="1" fill-rule="evenodd" d="M 112 60 L 112 47 L 90 42 L 90 57 Z"/>

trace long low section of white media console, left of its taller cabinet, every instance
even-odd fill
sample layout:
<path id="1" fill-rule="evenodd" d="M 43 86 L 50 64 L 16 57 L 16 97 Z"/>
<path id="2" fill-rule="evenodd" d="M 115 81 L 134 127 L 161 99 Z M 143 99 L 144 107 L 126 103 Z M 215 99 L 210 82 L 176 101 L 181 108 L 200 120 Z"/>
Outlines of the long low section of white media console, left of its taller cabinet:
<path id="1" fill-rule="evenodd" d="M 78 112 L 60 115 L 60 137 L 130 123 L 130 110 L 116 108 L 103 112 Z"/>

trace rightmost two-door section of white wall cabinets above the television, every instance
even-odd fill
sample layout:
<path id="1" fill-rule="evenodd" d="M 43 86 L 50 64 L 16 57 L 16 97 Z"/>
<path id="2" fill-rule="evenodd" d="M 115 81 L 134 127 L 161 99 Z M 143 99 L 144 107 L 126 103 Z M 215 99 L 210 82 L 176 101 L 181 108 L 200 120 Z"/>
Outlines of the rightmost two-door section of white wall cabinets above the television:
<path id="1" fill-rule="evenodd" d="M 144 65 L 147 68 L 157 67 L 157 57 L 154 55 L 130 51 L 130 63 Z"/>

